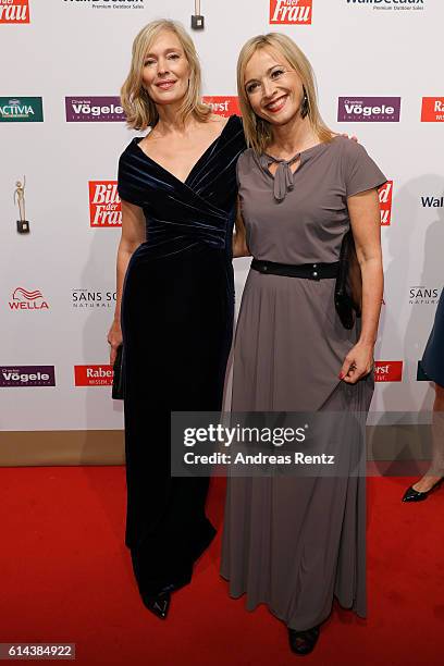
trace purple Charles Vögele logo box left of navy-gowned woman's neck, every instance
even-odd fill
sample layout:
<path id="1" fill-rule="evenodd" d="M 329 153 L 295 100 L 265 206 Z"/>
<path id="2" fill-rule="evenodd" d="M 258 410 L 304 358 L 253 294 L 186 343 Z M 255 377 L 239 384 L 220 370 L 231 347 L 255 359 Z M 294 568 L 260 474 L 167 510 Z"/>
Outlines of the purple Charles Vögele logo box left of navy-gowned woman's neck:
<path id="1" fill-rule="evenodd" d="M 67 123 L 122 123 L 120 97 L 65 97 Z"/>

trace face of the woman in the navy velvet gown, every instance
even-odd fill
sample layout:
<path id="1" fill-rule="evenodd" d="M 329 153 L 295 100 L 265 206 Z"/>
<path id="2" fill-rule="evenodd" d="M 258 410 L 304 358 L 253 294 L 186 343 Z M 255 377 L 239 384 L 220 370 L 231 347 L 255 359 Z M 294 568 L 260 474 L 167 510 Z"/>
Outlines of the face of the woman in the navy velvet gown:
<path id="1" fill-rule="evenodd" d="M 144 59 L 143 85 L 156 104 L 180 102 L 188 89 L 190 67 L 178 37 L 162 30 Z"/>

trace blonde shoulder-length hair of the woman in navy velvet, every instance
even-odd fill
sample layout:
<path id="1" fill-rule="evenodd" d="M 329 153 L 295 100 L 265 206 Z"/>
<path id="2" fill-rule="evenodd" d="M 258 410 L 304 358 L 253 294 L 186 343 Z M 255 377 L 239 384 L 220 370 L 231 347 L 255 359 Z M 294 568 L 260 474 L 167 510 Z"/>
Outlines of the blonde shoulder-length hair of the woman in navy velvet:
<path id="1" fill-rule="evenodd" d="M 148 23 L 133 42 L 130 74 L 121 89 L 126 123 L 132 130 L 146 130 L 148 126 L 156 125 L 159 120 L 156 104 L 143 85 L 143 73 L 146 54 L 162 32 L 171 32 L 177 37 L 189 64 L 188 90 L 178 110 L 182 122 L 185 123 L 190 115 L 205 122 L 211 115 L 210 107 L 200 101 L 200 63 L 193 39 L 181 23 L 162 18 Z"/>

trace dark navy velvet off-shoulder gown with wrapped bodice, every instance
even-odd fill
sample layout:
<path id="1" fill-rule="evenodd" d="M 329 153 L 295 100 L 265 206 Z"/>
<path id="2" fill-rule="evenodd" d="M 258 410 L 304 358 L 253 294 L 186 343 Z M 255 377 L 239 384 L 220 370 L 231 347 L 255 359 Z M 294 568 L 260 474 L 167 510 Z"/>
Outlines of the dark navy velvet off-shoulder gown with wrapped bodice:
<path id="1" fill-rule="evenodd" d="M 127 513 L 141 595 L 189 582 L 215 530 L 208 479 L 171 478 L 170 412 L 219 410 L 234 317 L 232 232 L 239 118 L 180 181 L 134 138 L 119 162 L 119 195 L 143 208 L 147 236 L 122 296 Z"/>

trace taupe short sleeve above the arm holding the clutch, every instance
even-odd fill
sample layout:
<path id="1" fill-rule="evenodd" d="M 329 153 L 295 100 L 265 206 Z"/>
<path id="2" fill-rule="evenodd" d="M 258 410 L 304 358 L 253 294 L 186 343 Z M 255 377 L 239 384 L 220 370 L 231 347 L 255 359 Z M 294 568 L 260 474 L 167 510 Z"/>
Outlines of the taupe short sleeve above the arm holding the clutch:
<path id="1" fill-rule="evenodd" d="M 360 144 L 345 139 L 343 159 L 347 197 L 381 187 L 386 183 L 387 178 Z"/>

